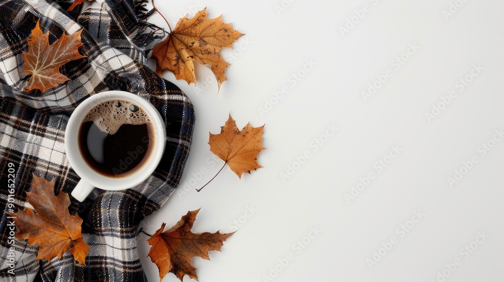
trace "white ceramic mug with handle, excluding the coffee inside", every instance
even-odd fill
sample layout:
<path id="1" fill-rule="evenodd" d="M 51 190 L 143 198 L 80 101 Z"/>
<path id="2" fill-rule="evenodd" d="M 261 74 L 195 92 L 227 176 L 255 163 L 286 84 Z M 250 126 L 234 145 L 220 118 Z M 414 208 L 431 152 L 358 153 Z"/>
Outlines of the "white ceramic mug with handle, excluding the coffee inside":
<path id="1" fill-rule="evenodd" d="M 121 177 L 106 176 L 93 170 L 81 153 L 79 147 L 79 129 L 87 113 L 98 104 L 108 100 L 126 100 L 142 108 L 152 121 L 154 127 L 154 148 L 142 167 L 131 174 Z M 67 158 L 74 171 L 81 180 L 72 191 L 72 196 L 78 201 L 84 201 L 91 191 L 96 188 L 103 190 L 124 190 L 134 187 L 147 179 L 156 169 L 164 154 L 166 145 L 166 128 L 159 111 L 146 99 L 124 91 L 106 91 L 95 94 L 84 100 L 74 110 L 65 130 L 65 150 Z"/>

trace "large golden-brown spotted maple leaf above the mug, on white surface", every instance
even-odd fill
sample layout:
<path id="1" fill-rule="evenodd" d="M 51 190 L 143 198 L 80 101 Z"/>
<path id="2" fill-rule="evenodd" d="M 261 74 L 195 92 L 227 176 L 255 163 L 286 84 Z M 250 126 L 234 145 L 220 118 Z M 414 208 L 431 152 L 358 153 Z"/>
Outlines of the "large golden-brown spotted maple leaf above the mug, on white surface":
<path id="1" fill-rule="evenodd" d="M 194 62 L 199 62 L 210 69 L 220 85 L 226 80 L 224 71 L 229 65 L 219 52 L 223 47 L 232 48 L 232 44 L 243 34 L 232 29 L 231 24 L 222 22 L 222 16 L 207 20 L 206 8 L 192 19 L 178 20 L 175 29 L 168 38 L 154 47 L 152 58 L 157 60 L 156 73 L 169 70 L 177 79 L 187 83 L 196 83 Z"/>

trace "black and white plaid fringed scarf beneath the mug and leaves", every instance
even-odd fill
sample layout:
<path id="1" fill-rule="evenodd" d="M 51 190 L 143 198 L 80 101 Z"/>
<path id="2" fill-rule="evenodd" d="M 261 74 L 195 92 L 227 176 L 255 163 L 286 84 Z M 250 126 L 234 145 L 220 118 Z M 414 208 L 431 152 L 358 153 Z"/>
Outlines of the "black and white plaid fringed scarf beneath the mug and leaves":
<path id="1" fill-rule="evenodd" d="M 179 183 L 194 126 L 191 101 L 172 83 L 147 67 L 147 45 L 163 34 L 146 23 L 153 11 L 145 0 L 84 1 L 67 12 L 73 0 L 0 1 L 0 222 L 1 281 L 146 281 L 137 251 L 140 221 L 163 205 Z M 21 74 L 22 51 L 40 19 L 54 42 L 62 32 L 81 28 L 86 58 L 60 68 L 71 81 L 40 93 L 25 93 L 29 77 Z M 73 109 L 91 95 L 129 91 L 148 99 L 167 126 L 167 143 L 157 170 L 140 185 L 124 191 L 95 191 L 84 203 L 72 198 L 71 213 L 83 218 L 89 245 L 86 265 L 67 251 L 61 259 L 35 260 L 38 246 L 9 238 L 9 199 L 15 210 L 30 208 L 26 191 L 32 173 L 55 180 L 55 191 L 69 193 L 79 181 L 65 155 L 65 127 Z M 11 173 L 13 172 L 13 173 Z M 14 179 L 15 191 L 8 185 Z M 11 191 L 12 192 L 12 191 Z M 14 247 L 14 275 L 9 273 Z M 11 270 L 12 271 L 12 270 Z"/>

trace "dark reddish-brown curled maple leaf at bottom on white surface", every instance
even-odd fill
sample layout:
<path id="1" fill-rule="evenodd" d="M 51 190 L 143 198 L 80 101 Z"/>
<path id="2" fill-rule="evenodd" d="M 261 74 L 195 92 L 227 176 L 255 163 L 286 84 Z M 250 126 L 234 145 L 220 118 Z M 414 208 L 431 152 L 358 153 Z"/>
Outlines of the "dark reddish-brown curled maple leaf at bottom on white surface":
<path id="1" fill-rule="evenodd" d="M 198 280 L 196 267 L 191 258 L 199 256 L 210 259 L 208 251 L 220 251 L 222 243 L 233 233 L 192 233 L 193 223 L 200 210 L 188 212 L 169 230 L 163 232 L 165 223 L 147 241 L 152 246 L 148 256 L 159 268 L 159 278 L 163 280 L 168 273 L 174 273 L 180 280 L 185 274 Z"/>

